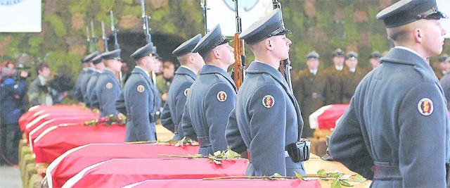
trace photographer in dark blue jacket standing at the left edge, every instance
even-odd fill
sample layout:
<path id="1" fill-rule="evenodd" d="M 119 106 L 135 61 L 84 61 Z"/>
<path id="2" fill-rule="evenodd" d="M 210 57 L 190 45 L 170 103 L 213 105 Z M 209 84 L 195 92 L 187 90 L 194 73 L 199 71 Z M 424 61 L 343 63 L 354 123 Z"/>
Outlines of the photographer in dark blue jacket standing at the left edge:
<path id="1" fill-rule="evenodd" d="M 18 120 L 25 113 L 23 97 L 28 73 L 25 70 L 18 73 L 12 61 L 5 61 L 0 68 L 0 165 L 16 165 L 18 144 L 22 135 Z"/>

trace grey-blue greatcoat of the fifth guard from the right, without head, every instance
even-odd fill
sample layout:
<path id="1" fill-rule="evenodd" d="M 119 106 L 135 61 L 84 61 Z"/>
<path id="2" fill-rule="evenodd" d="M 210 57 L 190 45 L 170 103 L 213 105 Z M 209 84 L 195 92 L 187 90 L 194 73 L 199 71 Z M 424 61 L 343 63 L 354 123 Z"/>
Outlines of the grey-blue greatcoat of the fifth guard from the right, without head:
<path id="1" fill-rule="evenodd" d="M 127 114 L 125 142 L 156 140 L 155 123 L 149 113 L 155 110 L 155 91 L 150 77 L 136 66 L 116 101 L 117 111 Z"/>

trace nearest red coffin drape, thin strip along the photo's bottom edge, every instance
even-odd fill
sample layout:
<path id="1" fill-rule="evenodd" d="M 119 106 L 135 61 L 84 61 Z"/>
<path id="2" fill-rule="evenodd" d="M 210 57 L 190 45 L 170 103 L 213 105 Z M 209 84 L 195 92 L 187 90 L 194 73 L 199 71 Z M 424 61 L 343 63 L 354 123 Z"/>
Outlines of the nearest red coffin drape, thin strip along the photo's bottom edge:
<path id="1" fill-rule="evenodd" d="M 211 188 L 211 187 L 245 187 L 245 188 L 274 188 L 274 187 L 305 187 L 319 188 L 321 184 L 318 180 L 301 181 L 301 180 L 146 180 L 136 184 L 131 184 L 123 188 L 172 188 L 172 187 L 195 187 L 195 188 Z"/>

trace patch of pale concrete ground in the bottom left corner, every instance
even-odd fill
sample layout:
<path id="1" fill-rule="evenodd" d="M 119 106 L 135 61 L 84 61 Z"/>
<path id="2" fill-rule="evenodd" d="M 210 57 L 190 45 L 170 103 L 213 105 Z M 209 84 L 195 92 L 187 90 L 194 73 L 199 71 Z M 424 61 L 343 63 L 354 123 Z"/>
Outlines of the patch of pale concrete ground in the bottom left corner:
<path id="1" fill-rule="evenodd" d="M 19 188 L 22 187 L 20 180 L 20 171 L 12 166 L 0 166 L 0 188 Z"/>

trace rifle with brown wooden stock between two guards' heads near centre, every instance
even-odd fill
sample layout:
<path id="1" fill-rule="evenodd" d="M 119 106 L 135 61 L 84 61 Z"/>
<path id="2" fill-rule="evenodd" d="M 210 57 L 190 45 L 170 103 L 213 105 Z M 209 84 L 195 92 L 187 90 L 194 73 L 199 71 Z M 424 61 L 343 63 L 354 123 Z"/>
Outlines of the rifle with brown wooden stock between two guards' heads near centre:
<path id="1" fill-rule="evenodd" d="M 239 89 L 245 77 L 245 51 L 244 40 L 239 39 L 239 35 L 242 32 L 241 19 L 238 11 L 238 0 L 233 0 L 236 7 L 236 33 L 234 34 L 234 68 L 233 68 L 233 80 L 236 84 L 236 88 Z"/>

